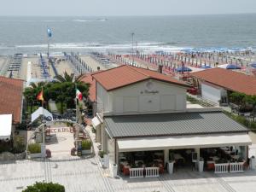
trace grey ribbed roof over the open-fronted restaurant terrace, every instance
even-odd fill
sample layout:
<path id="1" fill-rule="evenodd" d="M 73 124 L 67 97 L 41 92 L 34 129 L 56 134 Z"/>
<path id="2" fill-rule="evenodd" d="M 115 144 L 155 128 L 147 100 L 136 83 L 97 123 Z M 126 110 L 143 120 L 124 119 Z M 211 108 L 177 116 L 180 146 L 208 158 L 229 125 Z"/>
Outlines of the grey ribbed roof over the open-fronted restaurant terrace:
<path id="1" fill-rule="evenodd" d="M 112 137 L 178 136 L 246 132 L 222 112 L 162 113 L 105 117 Z"/>

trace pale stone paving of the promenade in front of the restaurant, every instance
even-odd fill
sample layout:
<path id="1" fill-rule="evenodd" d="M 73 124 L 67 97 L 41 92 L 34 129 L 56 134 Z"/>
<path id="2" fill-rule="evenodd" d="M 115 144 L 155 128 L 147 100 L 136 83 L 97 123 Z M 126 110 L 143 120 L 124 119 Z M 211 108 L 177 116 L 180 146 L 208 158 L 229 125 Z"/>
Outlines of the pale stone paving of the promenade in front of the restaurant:
<path id="1" fill-rule="evenodd" d="M 94 135 L 87 126 L 92 140 Z M 58 134 L 59 135 L 59 134 Z M 59 135 L 62 137 L 62 134 Z M 62 143 L 60 141 L 60 143 Z M 97 144 L 94 150 L 97 154 Z M 57 149 L 57 148 L 56 148 Z M 58 147 L 59 150 L 66 150 Z M 0 191 L 16 192 L 36 181 L 61 183 L 67 192 L 253 192 L 256 171 L 214 174 L 178 169 L 154 178 L 113 178 L 99 165 L 97 155 L 73 157 L 54 153 L 49 160 L 17 160 L 0 163 Z"/>

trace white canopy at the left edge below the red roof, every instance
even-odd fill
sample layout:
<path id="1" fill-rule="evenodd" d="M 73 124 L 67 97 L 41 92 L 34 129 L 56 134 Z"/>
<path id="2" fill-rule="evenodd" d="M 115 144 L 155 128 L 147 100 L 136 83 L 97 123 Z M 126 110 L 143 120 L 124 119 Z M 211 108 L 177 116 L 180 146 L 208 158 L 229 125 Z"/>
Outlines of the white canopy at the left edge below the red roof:
<path id="1" fill-rule="evenodd" d="M 12 132 L 12 114 L 0 114 L 0 140 L 10 139 Z"/>

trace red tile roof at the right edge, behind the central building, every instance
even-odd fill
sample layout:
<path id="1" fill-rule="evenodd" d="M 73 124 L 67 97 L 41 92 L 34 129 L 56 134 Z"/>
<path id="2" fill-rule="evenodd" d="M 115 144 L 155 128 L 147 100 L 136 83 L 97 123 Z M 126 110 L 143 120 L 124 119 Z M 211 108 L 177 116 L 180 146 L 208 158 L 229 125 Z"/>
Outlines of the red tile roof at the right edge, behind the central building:
<path id="1" fill-rule="evenodd" d="M 253 76 L 218 67 L 191 73 L 191 75 L 197 79 L 224 87 L 226 90 L 256 95 L 256 79 Z"/>

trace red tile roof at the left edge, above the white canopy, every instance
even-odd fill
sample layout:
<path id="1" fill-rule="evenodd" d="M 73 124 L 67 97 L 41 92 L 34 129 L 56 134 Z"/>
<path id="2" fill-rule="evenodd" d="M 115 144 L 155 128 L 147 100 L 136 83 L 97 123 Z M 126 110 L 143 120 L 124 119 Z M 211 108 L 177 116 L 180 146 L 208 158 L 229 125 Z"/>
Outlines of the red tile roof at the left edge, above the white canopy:
<path id="1" fill-rule="evenodd" d="M 0 114 L 13 114 L 15 123 L 20 123 L 24 81 L 0 77 Z"/>

